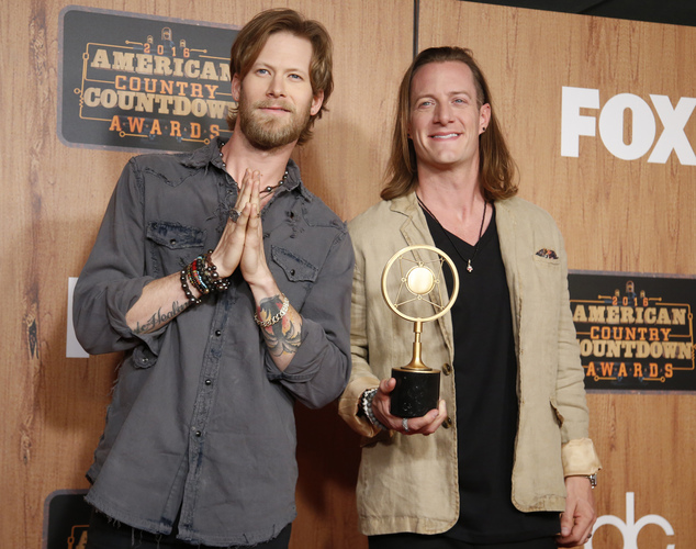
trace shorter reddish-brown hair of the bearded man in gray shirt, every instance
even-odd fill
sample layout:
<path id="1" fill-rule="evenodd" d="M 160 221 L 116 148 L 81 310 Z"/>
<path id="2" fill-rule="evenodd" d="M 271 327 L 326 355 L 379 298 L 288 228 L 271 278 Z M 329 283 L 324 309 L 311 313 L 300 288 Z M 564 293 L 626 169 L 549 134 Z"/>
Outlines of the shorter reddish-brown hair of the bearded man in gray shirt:
<path id="1" fill-rule="evenodd" d="M 316 97 L 324 92 L 324 101 L 316 114 L 310 116 L 307 125 L 303 130 L 298 145 L 303 145 L 312 137 L 312 126 L 316 119 L 321 119 L 326 111 L 326 103 L 334 90 L 333 77 L 333 43 L 328 32 L 318 21 L 305 19 L 303 15 L 290 9 L 266 10 L 249 21 L 232 45 L 229 54 L 229 78 L 235 75 L 240 80 L 247 76 L 251 66 L 256 63 L 261 49 L 269 36 L 279 32 L 288 32 L 300 38 L 306 38 L 312 44 L 312 60 L 310 61 L 310 80 L 312 94 Z M 227 115 L 227 125 L 234 130 L 237 120 L 237 108 L 231 108 Z"/>

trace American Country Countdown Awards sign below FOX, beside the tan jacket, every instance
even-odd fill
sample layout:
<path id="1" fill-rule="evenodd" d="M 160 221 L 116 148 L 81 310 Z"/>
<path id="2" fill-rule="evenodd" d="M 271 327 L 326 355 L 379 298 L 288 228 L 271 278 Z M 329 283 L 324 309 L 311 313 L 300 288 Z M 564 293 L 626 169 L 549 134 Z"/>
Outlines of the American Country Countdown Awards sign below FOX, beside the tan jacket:
<path id="1" fill-rule="evenodd" d="M 588 390 L 696 391 L 696 280 L 570 273 Z"/>

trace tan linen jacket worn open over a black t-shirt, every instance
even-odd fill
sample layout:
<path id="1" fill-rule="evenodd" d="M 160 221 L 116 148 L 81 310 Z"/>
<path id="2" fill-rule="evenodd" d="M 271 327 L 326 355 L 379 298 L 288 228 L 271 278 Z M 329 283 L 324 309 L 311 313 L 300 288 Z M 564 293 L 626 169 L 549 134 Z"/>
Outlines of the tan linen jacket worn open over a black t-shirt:
<path id="1" fill-rule="evenodd" d="M 563 511 L 565 475 L 592 474 L 600 463 L 587 438 L 584 372 L 568 292 L 562 236 L 551 216 L 519 198 L 495 203 L 510 293 L 518 361 L 519 425 L 513 504 L 524 512 Z M 366 535 L 437 534 L 459 516 L 454 345 L 449 314 L 423 326 L 423 360 L 441 368 L 448 421 L 434 435 L 379 432 L 359 417 L 360 395 L 411 359 L 413 323 L 381 294 L 384 265 L 400 249 L 434 246 L 415 194 L 382 201 L 349 223 L 356 251 L 351 306 L 352 374 L 339 401 L 344 419 L 366 438 L 358 478 L 360 529 Z M 558 258 L 537 255 L 555 251 Z M 372 437 L 372 438 L 371 438 Z"/>

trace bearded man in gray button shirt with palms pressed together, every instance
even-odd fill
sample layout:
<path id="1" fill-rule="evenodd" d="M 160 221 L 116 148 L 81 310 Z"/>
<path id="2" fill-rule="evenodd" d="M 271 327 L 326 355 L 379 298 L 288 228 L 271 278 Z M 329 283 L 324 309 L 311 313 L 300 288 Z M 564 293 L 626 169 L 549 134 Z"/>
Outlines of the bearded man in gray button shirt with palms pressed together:
<path id="1" fill-rule="evenodd" d="M 352 247 L 290 159 L 330 96 L 330 38 L 262 12 L 231 76 L 229 141 L 131 159 L 75 291 L 82 346 L 125 351 L 88 547 L 287 547 L 293 403 L 350 376 Z"/>

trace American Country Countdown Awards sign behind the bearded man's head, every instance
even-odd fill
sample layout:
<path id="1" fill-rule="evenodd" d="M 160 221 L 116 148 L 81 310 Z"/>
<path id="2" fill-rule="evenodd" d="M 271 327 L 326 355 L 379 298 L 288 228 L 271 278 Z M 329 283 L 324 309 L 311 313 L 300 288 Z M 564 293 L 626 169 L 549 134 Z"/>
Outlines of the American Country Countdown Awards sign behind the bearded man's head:
<path id="1" fill-rule="evenodd" d="M 66 145 L 193 150 L 229 133 L 232 27 L 68 7 L 60 34 Z"/>

